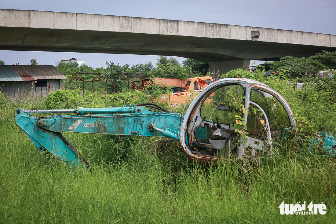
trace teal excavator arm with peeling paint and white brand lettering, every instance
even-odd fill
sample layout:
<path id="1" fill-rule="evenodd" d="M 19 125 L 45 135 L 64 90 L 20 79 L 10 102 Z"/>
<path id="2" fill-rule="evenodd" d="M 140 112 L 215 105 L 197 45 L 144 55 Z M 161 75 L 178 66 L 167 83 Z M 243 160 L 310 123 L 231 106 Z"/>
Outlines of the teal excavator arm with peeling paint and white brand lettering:
<path id="1" fill-rule="evenodd" d="M 54 114 L 36 117 L 32 115 L 34 113 L 73 113 L 75 116 Z M 167 137 L 178 140 L 180 120 L 180 114 L 153 112 L 137 105 L 117 108 L 79 107 L 73 110 L 15 111 L 15 123 L 39 151 L 52 153 L 75 169 L 89 167 L 89 163 L 61 132 Z"/>

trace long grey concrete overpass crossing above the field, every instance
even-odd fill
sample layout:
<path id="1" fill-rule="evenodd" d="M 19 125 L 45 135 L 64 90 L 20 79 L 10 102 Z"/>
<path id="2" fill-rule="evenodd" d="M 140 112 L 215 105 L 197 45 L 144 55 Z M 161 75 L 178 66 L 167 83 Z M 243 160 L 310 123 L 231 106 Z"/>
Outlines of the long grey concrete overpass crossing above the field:
<path id="1" fill-rule="evenodd" d="M 336 51 L 336 35 L 68 12 L 0 9 L 0 50 L 172 55 L 225 73 L 250 60 Z"/>

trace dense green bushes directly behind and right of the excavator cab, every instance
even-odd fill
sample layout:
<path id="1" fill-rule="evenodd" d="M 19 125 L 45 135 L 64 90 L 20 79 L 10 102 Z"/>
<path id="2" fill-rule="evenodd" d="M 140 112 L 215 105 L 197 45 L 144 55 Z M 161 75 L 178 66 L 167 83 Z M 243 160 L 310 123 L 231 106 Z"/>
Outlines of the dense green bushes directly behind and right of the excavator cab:
<path id="1" fill-rule="evenodd" d="M 335 75 L 329 78 L 314 77 L 302 79 L 304 85 L 295 90 L 289 75 L 279 72 L 275 76 L 264 76 L 264 71 L 248 72 L 243 69 L 232 70 L 222 77 L 244 77 L 265 83 L 277 90 L 289 103 L 300 128 L 307 136 L 321 130 L 336 133 L 336 84 Z"/>

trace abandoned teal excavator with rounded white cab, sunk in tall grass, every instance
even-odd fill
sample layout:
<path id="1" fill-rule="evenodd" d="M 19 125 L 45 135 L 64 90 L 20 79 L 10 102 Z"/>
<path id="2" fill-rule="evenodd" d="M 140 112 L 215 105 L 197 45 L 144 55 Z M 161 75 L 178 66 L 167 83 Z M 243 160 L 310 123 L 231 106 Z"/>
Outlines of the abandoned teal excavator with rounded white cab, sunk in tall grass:
<path id="1" fill-rule="evenodd" d="M 52 153 L 75 169 L 89 167 L 89 163 L 62 132 L 166 137 L 179 141 L 184 153 L 194 162 L 235 159 L 258 162 L 262 156 L 271 156 L 274 142 L 296 126 L 284 97 L 261 82 L 223 78 L 195 92 L 198 94 L 185 115 L 183 111 L 173 113 L 155 104 L 69 110 L 17 109 L 15 123 L 39 151 Z M 56 115 L 60 113 L 69 115 Z M 336 139 L 332 135 L 316 136 L 311 143 L 336 156 Z"/>

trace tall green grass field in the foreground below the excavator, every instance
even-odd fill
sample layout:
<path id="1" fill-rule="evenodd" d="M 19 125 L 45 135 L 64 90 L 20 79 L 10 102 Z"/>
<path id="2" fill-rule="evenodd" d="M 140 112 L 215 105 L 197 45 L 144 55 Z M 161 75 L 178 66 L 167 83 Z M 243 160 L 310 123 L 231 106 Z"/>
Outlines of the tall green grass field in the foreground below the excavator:
<path id="1" fill-rule="evenodd" d="M 175 141 L 66 133 L 93 167 L 73 171 L 15 125 L 15 109 L 34 104 L 0 110 L 0 223 L 336 223 L 333 158 L 289 142 L 259 166 L 208 167 Z M 282 201 L 324 202 L 327 213 L 280 215 Z"/>

